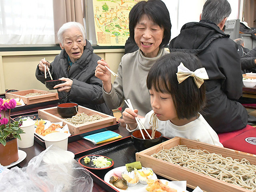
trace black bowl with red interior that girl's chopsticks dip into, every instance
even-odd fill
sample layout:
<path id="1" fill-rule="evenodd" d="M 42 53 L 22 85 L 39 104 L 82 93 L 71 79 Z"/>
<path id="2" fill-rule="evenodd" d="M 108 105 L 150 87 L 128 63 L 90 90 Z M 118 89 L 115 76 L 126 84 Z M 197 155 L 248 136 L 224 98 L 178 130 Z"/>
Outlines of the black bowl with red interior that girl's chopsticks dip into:
<path id="1" fill-rule="evenodd" d="M 151 136 L 152 129 L 147 129 L 147 131 L 148 134 Z M 132 142 L 134 147 L 138 151 L 142 151 L 144 149 L 150 148 L 162 142 L 162 133 L 159 132 L 158 130 L 156 130 L 154 139 L 150 139 L 149 136 L 146 134 L 145 130 L 142 130 L 142 132 L 145 136 L 145 139 L 143 139 L 140 130 L 132 132 Z"/>

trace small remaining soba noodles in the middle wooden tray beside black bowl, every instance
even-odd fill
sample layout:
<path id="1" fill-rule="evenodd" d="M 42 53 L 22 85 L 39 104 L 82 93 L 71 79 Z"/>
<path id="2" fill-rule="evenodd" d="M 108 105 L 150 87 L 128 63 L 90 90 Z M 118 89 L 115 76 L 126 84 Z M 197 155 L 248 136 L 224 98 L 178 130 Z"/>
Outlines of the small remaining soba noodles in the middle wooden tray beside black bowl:
<path id="1" fill-rule="evenodd" d="M 65 120 L 74 125 L 79 125 L 82 123 L 95 121 L 99 119 L 103 119 L 103 117 L 100 115 L 87 115 L 84 112 L 82 112 L 80 114 L 76 114 L 75 116 L 72 116 L 72 118 L 66 118 Z"/>

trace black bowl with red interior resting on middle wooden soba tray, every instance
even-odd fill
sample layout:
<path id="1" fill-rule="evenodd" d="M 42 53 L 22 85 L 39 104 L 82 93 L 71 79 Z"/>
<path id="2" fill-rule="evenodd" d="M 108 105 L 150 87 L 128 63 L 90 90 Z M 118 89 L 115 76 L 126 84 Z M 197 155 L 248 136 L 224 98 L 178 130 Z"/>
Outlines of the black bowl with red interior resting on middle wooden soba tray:
<path id="1" fill-rule="evenodd" d="M 62 103 L 58 104 L 57 112 L 62 118 L 71 118 L 78 112 L 78 104 L 76 103 Z"/>

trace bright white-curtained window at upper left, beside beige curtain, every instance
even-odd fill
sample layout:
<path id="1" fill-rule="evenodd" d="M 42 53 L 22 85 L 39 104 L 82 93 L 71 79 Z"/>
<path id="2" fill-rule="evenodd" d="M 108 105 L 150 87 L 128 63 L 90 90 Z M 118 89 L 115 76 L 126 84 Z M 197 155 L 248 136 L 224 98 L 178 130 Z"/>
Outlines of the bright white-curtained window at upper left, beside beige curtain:
<path id="1" fill-rule="evenodd" d="M 0 0 L 0 44 L 54 44 L 52 0 Z"/>

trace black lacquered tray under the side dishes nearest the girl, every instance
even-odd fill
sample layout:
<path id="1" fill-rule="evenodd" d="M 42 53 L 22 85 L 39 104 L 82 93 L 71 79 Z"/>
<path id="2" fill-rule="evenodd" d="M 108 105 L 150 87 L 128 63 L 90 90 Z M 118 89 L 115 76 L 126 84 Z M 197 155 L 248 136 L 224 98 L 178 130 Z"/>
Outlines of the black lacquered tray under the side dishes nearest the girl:
<path id="1" fill-rule="evenodd" d="M 163 137 L 163 141 L 168 140 L 168 138 Z M 112 158 L 114 161 L 114 166 L 109 169 L 87 169 L 90 173 L 91 177 L 93 178 L 94 182 L 96 182 L 99 186 L 104 188 L 108 192 L 117 192 L 115 188 L 113 188 L 110 184 L 104 181 L 105 174 L 110 171 L 111 169 L 125 166 L 126 163 L 131 163 L 136 161 L 135 153 L 138 152 L 136 148 L 132 144 L 131 136 L 122 138 L 120 140 L 116 140 L 90 150 L 86 150 L 84 152 L 80 152 L 75 154 L 76 161 L 79 158 L 86 156 L 86 155 L 102 155 L 108 158 Z M 144 164 L 142 164 L 144 166 Z M 162 176 L 157 176 L 159 179 L 163 178 Z M 191 189 L 187 188 L 188 191 L 192 191 Z M 124 190 L 125 192 L 125 190 Z"/>

